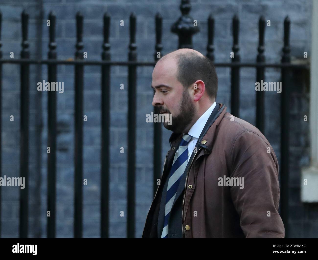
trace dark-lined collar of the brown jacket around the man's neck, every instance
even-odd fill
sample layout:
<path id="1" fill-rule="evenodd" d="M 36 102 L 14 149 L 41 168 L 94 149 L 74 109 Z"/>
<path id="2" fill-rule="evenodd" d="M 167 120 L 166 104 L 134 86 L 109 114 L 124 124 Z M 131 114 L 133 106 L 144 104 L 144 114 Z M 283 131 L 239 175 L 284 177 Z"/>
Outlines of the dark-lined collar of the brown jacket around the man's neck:
<path id="1" fill-rule="evenodd" d="M 213 137 L 215 129 L 223 119 L 226 113 L 226 106 L 221 103 L 217 103 L 217 106 L 213 109 L 208 121 L 206 122 L 199 139 L 197 140 L 197 146 L 207 149 L 209 152 L 212 150 Z M 183 133 L 173 132 L 169 138 L 171 147 L 179 145 L 179 141 L 182 138 Z M 206 141 L 206 142 L 205 142 Z M 203 142 L 203 143 L 202 143 Z"/>

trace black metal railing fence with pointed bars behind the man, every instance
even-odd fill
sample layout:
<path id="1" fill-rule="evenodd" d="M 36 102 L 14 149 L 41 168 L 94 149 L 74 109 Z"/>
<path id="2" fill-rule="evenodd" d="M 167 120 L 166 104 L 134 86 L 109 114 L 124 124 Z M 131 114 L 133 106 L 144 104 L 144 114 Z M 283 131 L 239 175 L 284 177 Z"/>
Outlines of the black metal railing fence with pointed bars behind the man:
<path id="1" fill-rule="evenodd" d="M 193 26 L 193 19 L 189 16 L 190 1 L 181 1 L 182 17 L 172 25 L 171 31 L 179 36 L 178 48 L 192 48 L 192 35 L 199 31 L 198 27 Z M 136 51 L 136 15 L 133 12 L 130 15 L 130 44 L 128 46 L 128 61 L 111 61 L 110 44 L 109 44 L 109 27 L 110 15 L 105 13 L 103 17 L 103 44 L 101 60 L 83 60 L 83 16 L 78 12 L 76 14 L 77 43 L 74 60 L 58 60 L 55 42 L 55 25 L 56 17 L 53 12 L 49 14 L 48 19 L 51 22 L 49 27 L 49 51 L 48 59 L 30 59 L 29 42 L 28 42 L 28 14 L 23 11 L 22 22 L 22 51 L 20 59 L 3 59 L 1 51 L 1 22 L 0 13 L 0 114 L 1 114 L 1 87 L 2 87 L 2 64 L 20 64 L 20 81 L 21 81 L 21 143 L 20 143 L 20 177 L 26 178 L 26 187 L 20 191 L 20 237 L 28 236 L 28 140 L 29 140 L 29 65 L 46 64 L 48 67 L 48 81 L 57 81 L 57 65 L 74 65 L 75 67 L 75 146 L 74 146 L 74 237 L 82 237 L 83 226 L 83 89 L 84 89 L 84 66 L 100 65 L 101 66 L 101 222 L 100 236 L 108 237 L 109 231 L 109 133 L 110 133 L 110 67 L 128 66 L 128 192 L 127 192 L 127 237 L 135 237 L 135 148 L 136 148 L 136 79 L 137 66 L 154 66 L 156 61 L 161 57 L 158 55 L 162 51 L 162 17 L 158 13 L 155 17 L 156 24 L 156 44 L 154 52 L 154 62 L 137 61 Z M 214 63 L 216 67 L 231 68 L 231 113 L 239 116 L 239 76 L 240 68 L 255 67 L 256 80 L 264 80 L 265 68 L 281 68 L 282 93 L 281 93 L 281 216 L 285 224 L 286 237 L 288 237 L 288 152 L 289 152 L 289 88 L 286 84 L 287 75 L 290 69 L 309 69 L 308 64 L 291 64 L 290 63 L 290 20 L 288 17 L 284 21 L 284 46 L 281 63 L 265 63 L 264 55 L 264 35 L 265 19 L 263 16 L 259 19 L 259 46 L 258 55 L 255 63 L 240 62 L 239 57 L 239 18 L 233 17 L 233 58 L 230 63 L 214 62 L 214 19 L 212 15 L 208 18 L 208 44 L 206 56 Z M 51 211 L 51 217 L 47 218 L 47 237 L 55 237 L 56 234 L 56 136 L 57 136 L 57 118 L 56 118 L 56 92 L 48 91 L 48 147 L 51 153 L 48 153 L 47 161 L 47 204 Z M 157 107 L 154 107 L 154 113 L 159 113 Z M 261 132 L 264 131 L 264 92 L 256 93 L 256 127 Z M 1 131 L 1 120 L 0 120 Z M 156 180 L 161 175 L 161 125 L 154 124 L 154 188 L 153 193 L 157 190 Z M 1 139 L 0 139 L 1 141 Z M 0 143 L 0 160 L 1 160 L 1 143 Z M 1 161 L 0 161 L 1 162 Z M 1 175 L 1 174 L 0 174 Z M 1 187 L 0 187 L 1 189 Z M 1 191 L 1 190 L 0 190 Z M 0 192 L 1 202 L 1 192 Z M 1 219 L 1 203 L 0 203 Z M 1 234 L 1 223 L 0 223 Z"/>

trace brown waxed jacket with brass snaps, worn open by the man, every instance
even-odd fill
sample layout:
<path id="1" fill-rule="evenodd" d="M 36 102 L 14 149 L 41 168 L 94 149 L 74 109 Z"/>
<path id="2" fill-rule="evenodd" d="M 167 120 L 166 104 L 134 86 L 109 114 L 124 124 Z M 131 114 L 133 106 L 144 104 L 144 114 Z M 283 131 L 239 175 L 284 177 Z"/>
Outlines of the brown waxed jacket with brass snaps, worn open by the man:
<path id="1" fill-rule="evenodd" d="M 223 104 L 215 109 L 220 112 L 198 139 L 199 148 L 187 170 L 183 237 L 284 238 L 278 213 L 278 161 L 273 148 L 256 127 L 227 113 Z M 173 161 L 181 137 L 182 133 L 172 133 L 165 165 Z M 164 167 L 162 176 L 168 173 Z M 244 186 L 239 186 L 243 180 Z M 146 218 L 143 238 L 157 237 L 160 186 Z"/>

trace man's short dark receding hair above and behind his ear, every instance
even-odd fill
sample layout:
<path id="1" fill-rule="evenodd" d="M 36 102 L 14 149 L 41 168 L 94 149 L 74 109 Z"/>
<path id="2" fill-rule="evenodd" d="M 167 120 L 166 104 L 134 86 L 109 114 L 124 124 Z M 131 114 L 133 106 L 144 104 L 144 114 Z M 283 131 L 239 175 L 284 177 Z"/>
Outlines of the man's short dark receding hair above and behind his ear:
<path id="1" fill-rule="evenodd" d="M 184 88 L 198 79 L 205 85 L 205 91 L 211 99 L 216 99 L 218 92 L 218 75 L 211 60 L 195 51 L 175 54 L 177 58 L 176 78 Z M 163 57 L 162 57 L 163 58 Z"/>

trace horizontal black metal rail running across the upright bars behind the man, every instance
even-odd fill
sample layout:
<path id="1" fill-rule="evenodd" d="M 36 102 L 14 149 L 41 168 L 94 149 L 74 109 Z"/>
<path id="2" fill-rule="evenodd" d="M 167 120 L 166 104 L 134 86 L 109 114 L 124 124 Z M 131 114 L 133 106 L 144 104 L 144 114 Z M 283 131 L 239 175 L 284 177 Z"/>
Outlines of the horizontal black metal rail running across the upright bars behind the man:
<path id="1" fill-rule="evenodd" d="M 154 66 L 156 62 L 146 61 L 81 61 L 81 60 L 37 60 L 37 59 L 0 59 L 2 63 L 28 63 L 28 64 L 61 64 L 61 65 L 114 65 L 114 66 Z M 290 63 L 256 63 L 256 62 L 222 62 L 214 63 L 216 67 L 272 67 L 272 68 L 295 68 L 309 69 L 310 64 L 290 64 Z"/>

